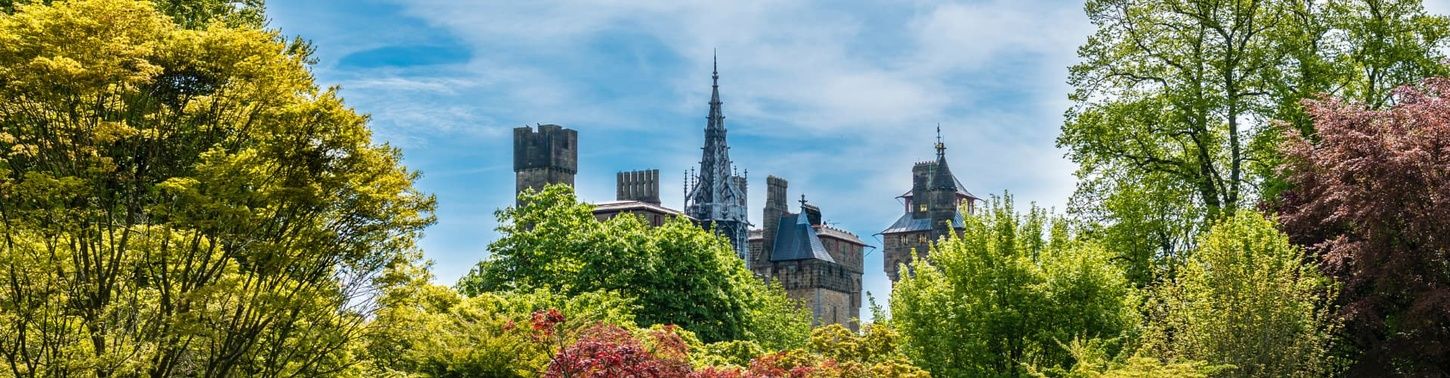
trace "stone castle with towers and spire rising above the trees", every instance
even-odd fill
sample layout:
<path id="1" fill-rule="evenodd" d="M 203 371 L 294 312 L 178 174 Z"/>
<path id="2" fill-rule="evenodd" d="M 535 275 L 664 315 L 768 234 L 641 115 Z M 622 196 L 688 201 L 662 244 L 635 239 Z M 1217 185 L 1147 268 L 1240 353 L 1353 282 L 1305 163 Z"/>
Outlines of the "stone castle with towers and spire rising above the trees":
<path id="1" fill-rule="evenodd" d="M 699 168 L 686 174 L 684 210 L 664 207 L 660 201 L 660 171 L 628 171 L 615 175 L 615 200 L 594 203 L 594 217 L 608 220 L 621 214 L 641 217 L 660 226 L 671 217 L 687 217 L 695 224 L 719 233 L 745 265 L 761 280 L 779 282 L 786 293 L 811 308 L 813 324 L 838 323 L 853 330 L 861 310 L 861 275 L 866 248 L 857 235 L 822 222 L 821 209 L 800 196 L 796 211 L 787 207 L 784 178 L 766 178 L 766 206 L 761 227 L 751 229 L 747 214 L 747 174 L 740 174 L 729 158 L 725 114 L 719 93 L 719 68 L 710 74 L 710 101 L 705 125 L 705 146 Z M 912 190 L 903 198 L 906 214 L 883 230 L 886 272 L 898 280 L 898 264 L 911 261 L 911 251 L 925 253 L 929 240 L 960 230 L 961 206 L 970 211 L 973 200 L 951 174 L 945 145 L 937 140 L 937 161 L 912 168 Z M 515 190 L 539 190 L 548 184 L 574 184 L 577 174 L 579 133 L 558 125 L 513 129 Z M 948 223 L 948 220 L 951 223 Z"/>

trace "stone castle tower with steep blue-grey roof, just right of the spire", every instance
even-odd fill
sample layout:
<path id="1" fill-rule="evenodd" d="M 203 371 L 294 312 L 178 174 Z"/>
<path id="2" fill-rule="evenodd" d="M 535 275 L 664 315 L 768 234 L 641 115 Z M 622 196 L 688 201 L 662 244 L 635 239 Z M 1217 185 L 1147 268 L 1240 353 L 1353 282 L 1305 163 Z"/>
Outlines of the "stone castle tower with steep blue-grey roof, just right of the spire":
<path id="1" fill-rule="evenodd" d="M 812 323 L 857 329 L 861 316 L 861 261 L 866 242 L 821 220 L 821 209 L 800 197 L 786 210 L 786 180 L 766 178 L 763 229 L 750 238 L 748 266 L 811 308 Z"/>

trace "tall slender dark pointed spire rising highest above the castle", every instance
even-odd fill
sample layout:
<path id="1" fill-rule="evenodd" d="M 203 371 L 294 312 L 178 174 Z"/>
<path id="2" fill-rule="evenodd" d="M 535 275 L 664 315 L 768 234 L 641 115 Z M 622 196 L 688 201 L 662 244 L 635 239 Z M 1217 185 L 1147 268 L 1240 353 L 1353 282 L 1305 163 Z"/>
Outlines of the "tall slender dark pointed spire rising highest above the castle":
<path id="1" fill-rule="evenodd" d="M 721 112 L 721 74 L 716 65 L 710 74 L 710 113 L 705 123 L 705 148 L 700 169 L 687 182 L 684 214 L 702 227 L 713 230 L 735 246 L 735 255 L 750 261 L 750 217 L 745 213 L 745 177 L 735 174 L 725 143 L 725 114 Z"/>

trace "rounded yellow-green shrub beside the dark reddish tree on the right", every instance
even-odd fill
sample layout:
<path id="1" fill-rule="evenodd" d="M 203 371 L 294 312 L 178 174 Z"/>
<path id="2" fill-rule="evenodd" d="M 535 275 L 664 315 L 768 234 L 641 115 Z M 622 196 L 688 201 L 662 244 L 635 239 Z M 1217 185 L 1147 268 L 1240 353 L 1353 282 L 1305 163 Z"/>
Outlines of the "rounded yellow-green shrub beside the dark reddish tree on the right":
<path id="1" fill-rule="evenodd" d="M 1154 290 L 1140 353 L 1234 366 L 1222 377 L 1331 374 L 1331 287 L 1305 261 L 1262 214 L 1224 219 Z"/>

